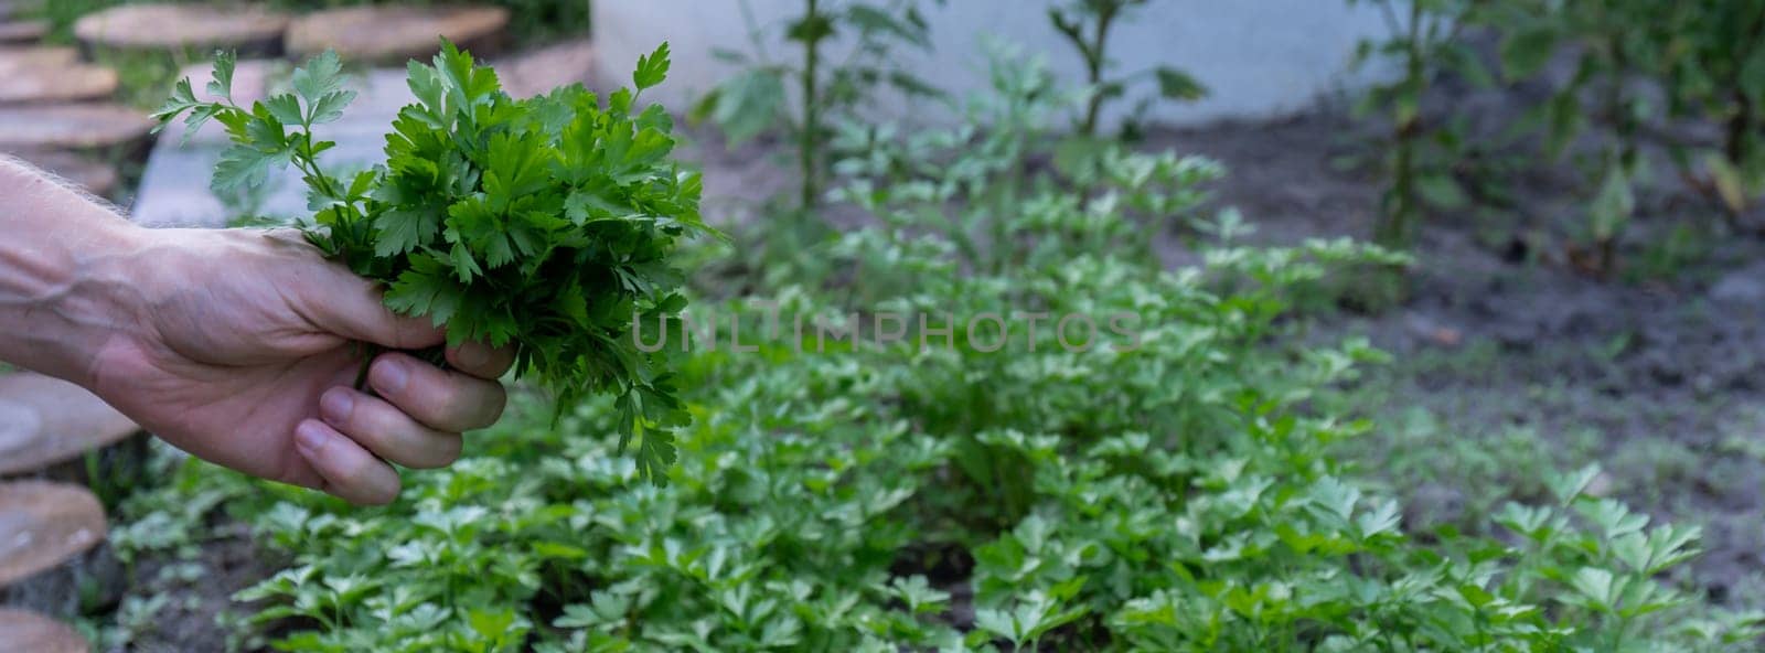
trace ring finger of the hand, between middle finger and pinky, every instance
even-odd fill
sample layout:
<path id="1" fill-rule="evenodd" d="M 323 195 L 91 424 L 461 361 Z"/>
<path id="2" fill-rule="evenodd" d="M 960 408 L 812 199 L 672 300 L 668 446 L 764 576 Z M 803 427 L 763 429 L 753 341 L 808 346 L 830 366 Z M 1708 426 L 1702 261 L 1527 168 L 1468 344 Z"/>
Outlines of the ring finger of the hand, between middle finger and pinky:
<path id="1" fill-rule="evenodd" d="M 457 432 L 417 424 L 392 404 L 351 388 L 327 390 L 319 397 L 319 417 L 374 455 L 406 468 L 432 469 L 459 459 Z"/>

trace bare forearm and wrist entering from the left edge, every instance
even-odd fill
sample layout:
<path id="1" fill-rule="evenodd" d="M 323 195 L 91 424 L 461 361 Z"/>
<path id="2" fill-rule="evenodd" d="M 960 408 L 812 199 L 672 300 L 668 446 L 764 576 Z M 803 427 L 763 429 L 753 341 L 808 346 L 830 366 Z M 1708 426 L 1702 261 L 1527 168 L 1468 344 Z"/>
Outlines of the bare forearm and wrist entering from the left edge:
<path id="1" fill-rule="evenodd" d="M 0 360 L 90 383 L 92 360 L 139 330 L 129 277 L 145 229 L 0 157 Z"/>

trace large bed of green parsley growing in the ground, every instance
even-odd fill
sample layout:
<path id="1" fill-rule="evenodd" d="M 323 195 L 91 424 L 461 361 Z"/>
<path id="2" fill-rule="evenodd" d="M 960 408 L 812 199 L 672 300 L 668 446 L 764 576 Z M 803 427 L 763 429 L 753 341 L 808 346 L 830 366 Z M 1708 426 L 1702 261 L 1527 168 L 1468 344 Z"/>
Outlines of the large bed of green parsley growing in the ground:
<path id="1" fill-rule="evenodd" d="M 1588 496 L 1592 469 L 1548 473 L 1491 537 L 1412 535 L 1430 524 L 1336 455 L 1375 427 L 1320 401 L 1380 355 L 1287 319 L 1393 254 L 1237 245 L 1223 214 L 1197 266 L 1165 270 L 1124 245 L 1193 212 L 1218 166 L 1052 146 L 1071 95 L 994 72 L 974 106 L 999 129 L 877 129 L 881 159 L 840 164 L 881 221 L 815 254 L 861 274 L 694 304 L 752 349 L 669 323 L 694 415 L 671 484 L 612 455 L 616 399 L 549 422 L 515 394 L 397 505 L 231 501 L 289 561 L 238 595 L 251 621 L 284 651 L 1753 648 L 1760 616 L 1664 575 L 1698 533 Z M 911 326 L 882 337 L 884 312 Z"/>

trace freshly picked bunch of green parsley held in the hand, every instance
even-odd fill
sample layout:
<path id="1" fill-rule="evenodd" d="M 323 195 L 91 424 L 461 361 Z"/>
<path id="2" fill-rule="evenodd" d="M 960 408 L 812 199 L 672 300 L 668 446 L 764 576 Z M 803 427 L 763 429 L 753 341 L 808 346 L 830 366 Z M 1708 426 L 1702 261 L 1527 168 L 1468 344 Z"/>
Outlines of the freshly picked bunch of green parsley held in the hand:
<path id="1" fill-rule="evenodd" d="M 222 53 L 208 83 L 215 102 L 184 79 L 155 118 L 164 127 L 187 113 L 191 132 L 208 120 L 226 127 L 217 192 L 300 169 L 314 212 L 307 238 L 381 281 L 392 311 L 445 326 L 450 346 L 514 346 L 515 374 L 558 406 L 614 394 L 620 447 L 635 441 L 637 469 L 662 482 L 687 413 L 660 353 L 637 349 L 630 332 L 634 319 L 685 307 L 669 254 L 710 231 L 699 175 L 669 161 L 672 118 L 657 104 L 634 109 L 667 76 L 667 55 L 662 44 L 639 58 L 637 92 L 605 102 L 581 85 L 512 99 L 496 71 L 443 42 L 432 65 L 409 64 L 417 104 L 392 124 L 385 164 L 353 176 L 327 175 L 319 154 L 335 143 L 312 136 L 355 99 L 335 53 L 298 67 L 291 94 L 251 108 L 233 102 L 235 60 Z"/>

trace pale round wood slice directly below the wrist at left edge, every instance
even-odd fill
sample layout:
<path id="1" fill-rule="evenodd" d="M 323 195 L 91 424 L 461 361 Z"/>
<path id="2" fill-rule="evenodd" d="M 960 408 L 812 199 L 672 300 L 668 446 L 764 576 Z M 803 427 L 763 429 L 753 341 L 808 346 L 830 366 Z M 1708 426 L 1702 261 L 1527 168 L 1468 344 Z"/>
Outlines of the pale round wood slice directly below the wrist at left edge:
<path id="1" fill-rule="evenodd" d="M 0 376 L 0 475 L 46 469 L 138 431 L 78 385 L 32 372 Z"/>

